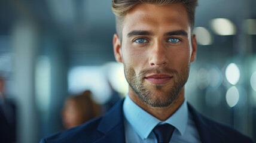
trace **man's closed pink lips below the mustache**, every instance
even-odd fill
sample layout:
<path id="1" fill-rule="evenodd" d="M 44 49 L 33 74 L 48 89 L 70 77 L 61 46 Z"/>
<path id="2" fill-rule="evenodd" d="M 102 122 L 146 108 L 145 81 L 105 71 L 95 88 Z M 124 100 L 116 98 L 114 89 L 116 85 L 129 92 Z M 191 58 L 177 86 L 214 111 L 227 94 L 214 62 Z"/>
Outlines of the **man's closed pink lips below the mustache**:
<path id="1" fill-rule="evenodd" d="M 145 77 L 149 82 L 157 85 L 165 84 L 169 82 L 172 79 L 172 76 L 169 76 L 167 74 L 154 74 L 151 76 Z"/>

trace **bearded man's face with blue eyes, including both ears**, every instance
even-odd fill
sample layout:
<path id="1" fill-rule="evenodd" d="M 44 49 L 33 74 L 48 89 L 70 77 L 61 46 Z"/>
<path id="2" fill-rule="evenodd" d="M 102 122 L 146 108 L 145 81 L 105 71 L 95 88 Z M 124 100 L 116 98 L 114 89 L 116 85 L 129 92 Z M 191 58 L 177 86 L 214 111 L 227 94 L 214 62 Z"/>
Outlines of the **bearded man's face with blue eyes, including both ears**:
<path id="1" fill-rule="evenodd" d="M 191 38 L 185 7 L 136 5 L 125 15 L 122 33 L 121 45 L 114 36 L 114 52 L 124 64 L 129 95 L 152 107 L 170 105 L 196 57 L 196 38 Z"/>

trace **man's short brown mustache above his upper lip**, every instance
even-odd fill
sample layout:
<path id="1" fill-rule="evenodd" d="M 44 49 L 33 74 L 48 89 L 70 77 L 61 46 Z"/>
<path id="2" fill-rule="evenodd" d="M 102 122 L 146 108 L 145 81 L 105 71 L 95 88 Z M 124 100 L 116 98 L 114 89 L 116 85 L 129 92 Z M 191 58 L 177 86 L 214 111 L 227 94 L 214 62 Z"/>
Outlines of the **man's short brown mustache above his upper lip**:
<path id="1" fill-rule="evenodd" d="M 168 67 L 151 67 L 148 69 L 144 69 L 139 72 L 139 77 L 144 78 L 147 74 L 150 73 L 169 73 L 169 74 L 178 74 L 178 71 L 175 69 L 170 69 Z"/>

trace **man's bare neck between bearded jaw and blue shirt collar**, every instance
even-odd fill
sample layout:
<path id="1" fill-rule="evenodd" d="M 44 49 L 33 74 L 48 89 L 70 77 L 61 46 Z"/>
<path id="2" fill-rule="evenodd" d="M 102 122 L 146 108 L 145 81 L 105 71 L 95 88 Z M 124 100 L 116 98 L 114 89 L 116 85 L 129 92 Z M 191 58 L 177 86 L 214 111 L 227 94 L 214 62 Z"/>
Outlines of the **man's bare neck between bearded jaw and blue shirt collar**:
<path id="1" fill-rule="evenodd" d="M 172 116 L 172 114 L 174 114 L 181 106 L 181 104 L 184 102 L 184 91 L 185 90 L 183 87 L 179 92 L 178 96 L 175 98 L 175 100 L 173 100 L 173 102 L 167 107 L 151 107 L 150 105 L 145 104 L 145 102 L 143 102 L 135 93 L 133 94 L 129 92 L 129 97 L 133 102 L 135 102 L 135 104 L 137 104 L 143 110 L 147 111 L 157 119 L 164 121 L 167 120 L 170 116 Z"/>

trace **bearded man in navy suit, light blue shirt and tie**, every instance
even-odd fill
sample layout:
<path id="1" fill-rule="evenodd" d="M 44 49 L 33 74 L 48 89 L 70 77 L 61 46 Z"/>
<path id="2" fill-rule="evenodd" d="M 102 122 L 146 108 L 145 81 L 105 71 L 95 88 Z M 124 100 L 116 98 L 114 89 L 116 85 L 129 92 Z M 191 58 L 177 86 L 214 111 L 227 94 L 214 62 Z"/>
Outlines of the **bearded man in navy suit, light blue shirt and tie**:
<path id="1" fill-rule="evenodd" d="M 184 85 L 196 59 L 197 0 L 113 0 L 115 59 L 129 93 L 105 116 L 42 142 L 252 142 L 197 113 Z"/>

